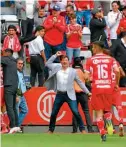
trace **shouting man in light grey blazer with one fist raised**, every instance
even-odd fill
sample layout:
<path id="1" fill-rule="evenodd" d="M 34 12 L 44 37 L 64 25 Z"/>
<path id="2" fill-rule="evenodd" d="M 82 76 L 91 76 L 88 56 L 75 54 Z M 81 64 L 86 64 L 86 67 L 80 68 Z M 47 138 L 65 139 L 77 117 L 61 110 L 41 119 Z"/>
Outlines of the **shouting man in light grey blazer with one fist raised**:
<path id="1" fill-rule="evenodd" d="M 53 63 L 53 61 L 60 57 L 60 63 Z M 75 115 L 79 124 L 79 129 L 82 133 L 85 133 L 85 127 L 81 116 L 78 112 L 77 101 L 74 91 L 74 81 L 85 91 L 89 96 L 91 95 L 85 84 L 80 81 L 75 69 L 69 67 L 69 59 L 66 55 L 62 55 L 61 52 L 57 52 L 46 63 L 46 66 L 51 70 L 50 76 L 45 82 L 45 86 L 48 90 L 56 91 L 56 98 L 54 101 L 52 114 L 49 124 L 49 133 L 53 133 L 55 129 L 56 116 L 63 105 L 67 102 L 72 113 Z"/>

